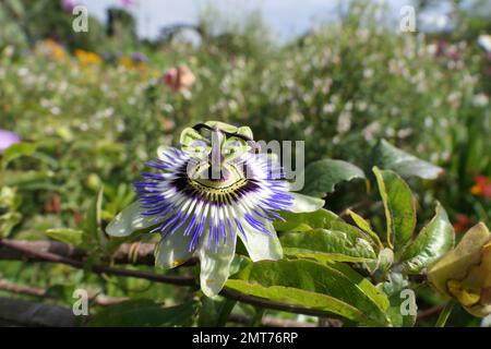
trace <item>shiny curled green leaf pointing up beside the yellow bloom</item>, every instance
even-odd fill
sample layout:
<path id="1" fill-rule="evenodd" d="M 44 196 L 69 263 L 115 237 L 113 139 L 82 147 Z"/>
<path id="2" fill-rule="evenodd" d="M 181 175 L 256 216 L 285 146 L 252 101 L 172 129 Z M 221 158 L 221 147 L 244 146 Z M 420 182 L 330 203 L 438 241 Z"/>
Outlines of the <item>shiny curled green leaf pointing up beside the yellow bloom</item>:
<path id="1" fill-rule="evenodd" d="M 454 228 L 440 203 L 436 203 L 435 212 L 435 216 L 399 258 L 409 273 L 420 273 L 454 246 Z"/>

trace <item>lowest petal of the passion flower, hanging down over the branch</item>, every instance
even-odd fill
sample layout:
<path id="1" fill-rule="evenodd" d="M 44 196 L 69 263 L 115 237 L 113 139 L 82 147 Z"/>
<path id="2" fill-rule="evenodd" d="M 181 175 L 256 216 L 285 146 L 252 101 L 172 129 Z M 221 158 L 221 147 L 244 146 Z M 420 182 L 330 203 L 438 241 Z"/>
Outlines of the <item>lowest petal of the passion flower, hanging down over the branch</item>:
<path id="1" fill-rule="evenodd" d="M 229 277 L 230 264 L 236 254 L 237 234 L 227 236 L 225 243 L 219 239 L 218 250 L 215 253 L 214 244 L 209 249 L 206 248 L 209 230 L 201 239 L 197 255 L 201 262 L 201 289 L 207 297 L 214 297 L 221 291 Z"/>

